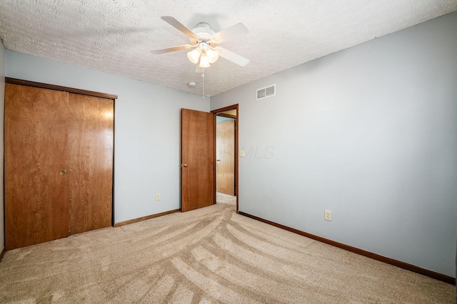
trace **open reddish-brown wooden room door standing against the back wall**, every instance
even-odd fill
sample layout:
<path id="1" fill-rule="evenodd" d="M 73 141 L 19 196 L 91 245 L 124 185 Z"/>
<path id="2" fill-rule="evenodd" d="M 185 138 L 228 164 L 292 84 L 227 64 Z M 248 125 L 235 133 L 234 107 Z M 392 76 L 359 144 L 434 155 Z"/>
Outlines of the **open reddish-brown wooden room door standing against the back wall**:
<path id="1" fill-rule="evenodd" d="M 214 204 L 214 114 L 181 109 L 181 211 Z"/>

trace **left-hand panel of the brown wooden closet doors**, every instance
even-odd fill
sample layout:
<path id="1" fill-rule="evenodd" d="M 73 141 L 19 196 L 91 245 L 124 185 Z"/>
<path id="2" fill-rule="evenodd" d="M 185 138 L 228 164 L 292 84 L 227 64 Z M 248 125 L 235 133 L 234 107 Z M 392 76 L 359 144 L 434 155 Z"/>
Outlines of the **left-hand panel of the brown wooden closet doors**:
<path id="1" fill-rule="evenodd" d="M 5 85 L 5 248 L 69 235 L 69 93 Z M 62 172 L 64 173 L 64 172 Z"/>

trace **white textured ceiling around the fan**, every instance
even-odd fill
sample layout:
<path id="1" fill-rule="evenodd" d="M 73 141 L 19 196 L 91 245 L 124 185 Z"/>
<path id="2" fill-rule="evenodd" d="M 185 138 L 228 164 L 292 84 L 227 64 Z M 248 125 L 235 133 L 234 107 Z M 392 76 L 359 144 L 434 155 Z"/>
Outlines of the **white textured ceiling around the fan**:
<path id="1" fill-rule="evenodd" d="M 160 17 L 216 32 L 241 22 L 248 35 L 221 46 L 250 62 L 206 69 L 212 96 L 452 11 L 456 0 L 1 0 L 0 38 L 11 51 L 201 94 L 186 51 L 151 54 L 189 43 Z"/>

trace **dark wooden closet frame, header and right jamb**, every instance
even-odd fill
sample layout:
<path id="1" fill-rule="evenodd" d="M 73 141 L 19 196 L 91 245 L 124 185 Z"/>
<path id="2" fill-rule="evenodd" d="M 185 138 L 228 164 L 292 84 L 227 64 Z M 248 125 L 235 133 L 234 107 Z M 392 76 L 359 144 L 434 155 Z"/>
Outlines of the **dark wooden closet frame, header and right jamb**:
<path id="1" fill-rule="evenodd" d="M 67 93 L 75 93 L 79 95 L 88 95 L 92 97 L 97 97 L 97 98 L 106 98 L 109 100 L 113 100 L 113 111 L 115 110 L 115 105 L 116 105 L 116 99 L 118 98 L 117 95 L 113 94 L 108 94 L 108 93 L 99 93 L 99 92 L 94 92 L 94 91 L 89 91 L 89 90 L 80 90 L 76 88 L 68 88 L 60 85 L 51 85 L 47 83 L 37 83 L 34 81 L 29 81 L 29 80 L 21 80 L 21 79 L 16 79 L 16 78 L 5 78 L 5 83 L 10 83 L 10 84 L 15 84 L 15 85 L 26 85 L 29 87 L 34 87 L 34 88 L 44 88 L 44 89 L 49 89 L 49 90 L 58 90 L 58 91 L 64 91 Z M 113 174 L 112 174 L 112 192 L 111 192 L 111 226 L 114 224 L 114 130 L 115 130 L 115 122 L 114 122 L 114 117 L 113 117 L 113 162 L 112 162 L 112 169 L 113 169 Z M 12 249 L 12 248 L 9 248 Z M 7 249 L 7 250 L 9 250 Z"/>

